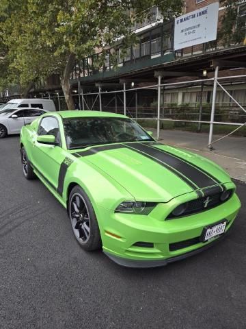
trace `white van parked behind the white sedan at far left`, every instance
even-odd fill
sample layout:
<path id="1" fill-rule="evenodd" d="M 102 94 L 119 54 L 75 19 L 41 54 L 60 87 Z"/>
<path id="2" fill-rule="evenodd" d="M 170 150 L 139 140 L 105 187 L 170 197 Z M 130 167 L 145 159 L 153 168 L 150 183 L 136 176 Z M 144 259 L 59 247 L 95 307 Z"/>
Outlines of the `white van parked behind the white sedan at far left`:
<path id="1" fill-rule="evenodd" d="M 55 104 L 51 99 L 42 98 L 18 98 L 11 99 L 1 110 L 8 108 L 41 108 L 48 112 L 55 111 Z"/>

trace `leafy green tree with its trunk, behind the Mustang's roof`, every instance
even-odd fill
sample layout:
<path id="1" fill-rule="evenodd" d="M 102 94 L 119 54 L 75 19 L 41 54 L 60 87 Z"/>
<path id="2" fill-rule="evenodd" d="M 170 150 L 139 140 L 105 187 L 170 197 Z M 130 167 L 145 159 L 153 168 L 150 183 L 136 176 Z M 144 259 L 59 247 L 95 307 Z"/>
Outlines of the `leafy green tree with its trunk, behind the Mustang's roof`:
<path id="1" fill-rule="evenodd" d="M 120 39 L 135 39 L 133 23 L 158 5 L 168 21 L 182 11 L 182 0 L 1 0 L 0 21 L 9 67 L 25 85 L 58 73 L 69 109 L 74 108 L 69 78 L 77 58 L 92 55 Z M 6 13 L 7 16 L 6 16 Z"/>

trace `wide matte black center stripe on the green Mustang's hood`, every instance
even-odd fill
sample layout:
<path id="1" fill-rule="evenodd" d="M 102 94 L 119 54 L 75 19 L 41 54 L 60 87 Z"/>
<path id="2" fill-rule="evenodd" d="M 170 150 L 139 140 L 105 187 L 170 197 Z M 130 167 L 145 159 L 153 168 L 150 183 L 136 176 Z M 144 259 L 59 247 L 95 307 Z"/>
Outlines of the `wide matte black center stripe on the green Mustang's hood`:
<path id="1" fill-rule="evenodd" d="M 182 175 L 191 180 L 191 182 L 198 186 L 198 188 L 207 188 L 208 186 L 217 184 L 215 180 L 208 177 L 208 175 L 194 167 L 192 164 L 189 164 L 172 154 L 168 154 L 165 151 L 161 151 L 161 149 L 142 143 L 131 143 L 131 147 L 168 164 L 170 167 L 176 169 L 178 172 L 182 173 Z M 219 188 L 219 192 L 221 192 L 220 186 L 217 187 Z"/>

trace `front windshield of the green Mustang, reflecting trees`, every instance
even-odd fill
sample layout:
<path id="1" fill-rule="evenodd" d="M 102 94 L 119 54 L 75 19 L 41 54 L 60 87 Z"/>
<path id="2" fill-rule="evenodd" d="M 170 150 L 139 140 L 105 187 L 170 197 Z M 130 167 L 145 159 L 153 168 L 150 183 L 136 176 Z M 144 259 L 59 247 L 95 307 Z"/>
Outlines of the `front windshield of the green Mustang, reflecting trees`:
<path id="1" fill-rule="evenodd" d="M 84 117 L 64 119 L 68 149 L 133 141 L 154 141 L 135 121 L 124 118 Z"/>

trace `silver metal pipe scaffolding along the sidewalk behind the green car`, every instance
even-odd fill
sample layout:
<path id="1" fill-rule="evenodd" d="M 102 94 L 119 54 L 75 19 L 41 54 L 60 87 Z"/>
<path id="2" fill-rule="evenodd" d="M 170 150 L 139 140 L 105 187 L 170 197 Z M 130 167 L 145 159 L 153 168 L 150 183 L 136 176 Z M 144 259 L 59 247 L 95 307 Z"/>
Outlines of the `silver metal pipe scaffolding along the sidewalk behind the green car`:
<path id="1" fill-rule="evenodd" d="M 234 63 L 234 64 L 233 64 Z M 236 62 L 230 62 L 230 66 L 232 66 L 232 64 L 234 66 L 236 65 L 240 65 L 242 66 L 242 62 L 237 63 Z M 154 79 L 156 80 L 156 83 L 154 83 L 154 80 L 152 84 L 148 85 L 148 86 L 139 86 L 139 87 L 135 87 L 134 86 L 134 82 L 131 82 L 134 79 L 129 79 L 129 80 L 120 80 L 120 83 L 117 84 L 117 87 L 120 86 L 120 89 L 118 90 L 109 90 L 109 91 L 103 91 L 102 88 L 104 88 L 105 86 L 109 87 L 112 85 L 116 85 L 116 84 L 103 84 L 103 83 L 98 83 L 95 84 L 95 88 L 98 88 L 98 90 L 94 93 L 84 93 L 83 90 L 83 86 L 81 86 L 81 82 L 78 79 L 78 94 L 74 95 L 74 97 L 78 97 L 79 98 L 79 103 L 78 103 L 78 109 L 79 110 L 94 110 L 95 109 L 95 105 L 96 103 L 98 103 L 97 109 L 102 111 L 102 110 L 109 110 L 108 106 L 109 104 L 114 102 L 114 106 L 110 107 L 110 112 L 116 112 L 119 113 L 121 112 L 121 108 L 122 108 L 122 114 L 124 115 L 128 115 L 129 117 L 131 117 L 132 119 L 135 120 L 141 120 L 141 121 L 148 121 L 148 120 L 154 120 L 156 121 L 156 139 L 159 140 L 160 139 L 160 130 L 161 130 L 161 123 L 165 122 L 165 121 L 173 121 L 173 122 L 181 122 L 181 123 L 197 123 L 198 124 L 198 130 L 201 127 L 202 124 L 207 124 L 209 125 L 209 134 L 208 134 L 208 148 L 209 149 L 213 149 L 213 145 L 215 143 L 217 143 L 218 141 L 221 141 L 221 139 L 226 138 L 227 136 L 233 134 L 234 132 L 236 132 L 237 130 L 241 129 L 241 127 L 246 125 L 246 121 L 244 123 L 238 123 L 238 122 L 225 122 L 225 121 L 215 121 L 215 114 L 216 114 L 216 97 L 217 97 L 217 89 L 221 88 L 221 90 L 223 90 L 224 93 L 226 93 L 226 95 L 228 95 L 228 97 L 230 97 L 230 99 L 232 99 L 232 101 L 236 104 L 236 106 L 238 108 L 240 108 L 240 110 L 242 110 L 243 112 L 246 113 L 245 108 L 238 102 L 236 101 L 236 99 L 234 97 L 232 97 L 232 95 L 228 92 L 228 90 L 226 90 L 226 88 L 223 86 L 224 82 L 230 81 L 238 81 L 238 80 L 246 80 L 246 75 L 234 75 L 234 76 L 228 76 L 228 77 L 219 77 L 219 68 L 220 66 L 226 66 L 226 62 L 225 61 L 213 61 L 213 67 L 214 67 L 214 77 L 200 77 L 196 80 L 189 80 L 189 81 L 183 81 L 183 82 L 172 82 L 172 83 L 162 83 L 161 80 L 167 76 L 172 76 L 172 77 L 178 77 L 178 76 L 197 76 L 197 73 L 187 73 L 187 72 L 167 72 L 167 71 L 155 71 L 154 72 Z M 141 81 L 141 80 L 139 80 Z M 130 88 L 127 88 L 128 83 L 131 82 L 131 86 Z M 197 120 L 186 120 L 186 119 L 172 119 L 169 117 L 165 117 L 164 112 L 161 114 L 161 93 L 163 93 L 163 97 L 164 97 L 164 92 L 165 90 L 168 90 L 169 88 L 177 88 L 177 87 L 182 87 L 182 86 L 201 86 L 201 96 L 202 96 L 202 92 L 203 92 L 203 88 L 204 88 L 204 84 L 209 84 L 213 86 L 213 99 L 212 99 L 212 104 L 211 104 L 211 109 L 210 109 L 210 120 L 208 121 L 202 121 L 202 100 L 200 101 L 200 111 L 199 111 L 199 117 Z M 137 93 L 140 90 L 155 90 L 157 92 L 157 103 L 156 103 L 156 113 L 153 117 L 146 117 L 146 116 L 139 116 L 138 113 L 138 106 L 137 106 Z M 131 102 L 134 101 L 135 99 L 135 113 L 132 114 L 131 111 L 128 110 L 128 106 L 126 103 L 126 95 L 128 93 L 131 93 L 132 97 L 131 97 Z M 102 98 L 105 97 L 105 95 L 107 95 L 107 97 L 109 97 L 109 95 L 111 96 L 111 98 L 109 99 L 109 101 L 107 101 L 107 106 L 103 106 L 102 105 Z M 122 97 L 120 97 L 120 95 L 122 95 Z M 59 94 L 55 97 L 58 99 L 58 107 L 59 110 L 61 110 L 61 105 L 60 105 L 60 99 L 63 96 L 60 96 Z M 53 98 L 53 97 L 49 97 L 49 98 Z M 88 101 L 88 99 L 90 98 L 90 102 Z M 202 99 L 202 97 L 201 97 Z M 122 103 L 122 106 L 119 106 L 118 101 L 120 101 L 120 103 Z M 164 105 L 163 105 L 164 106 Z M 152 113 L 154 114 L 154 113 Z M 213 128 L 214 125 L 234 125 L 236 126 L 236 129 L 234 129 L 232 132 L 230 132 L 229 134 L 226 134 L 225 136 L 218 138 L 217 140 L 213 141 Z"/>

